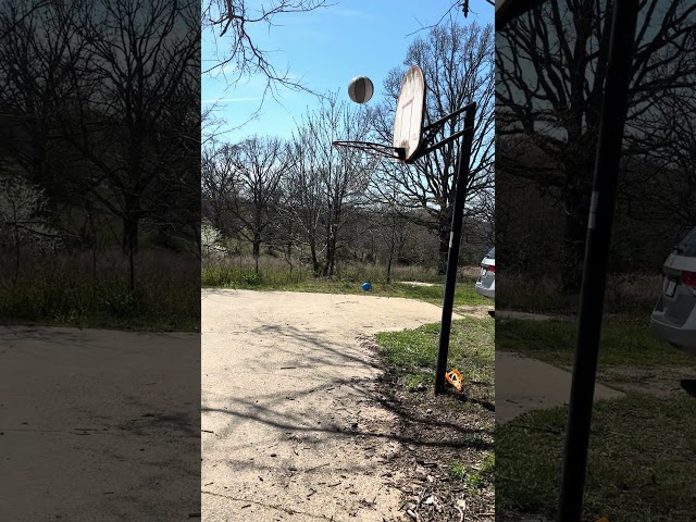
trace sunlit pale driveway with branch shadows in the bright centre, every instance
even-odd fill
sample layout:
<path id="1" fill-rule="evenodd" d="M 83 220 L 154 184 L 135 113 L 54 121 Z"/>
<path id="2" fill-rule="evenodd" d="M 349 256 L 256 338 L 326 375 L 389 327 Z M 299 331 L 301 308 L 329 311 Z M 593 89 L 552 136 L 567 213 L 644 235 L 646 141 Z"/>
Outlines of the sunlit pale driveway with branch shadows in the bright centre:
<path id="1" fill-rule="evenodd" d="M 374 400 L 380 371 L 360 338 L 437 322 L 439 308 L 211 289 L 202 318 L 203 520 L 397 519 L 381 464 L 401 443 L 374 427 L 393 413 Z"/>

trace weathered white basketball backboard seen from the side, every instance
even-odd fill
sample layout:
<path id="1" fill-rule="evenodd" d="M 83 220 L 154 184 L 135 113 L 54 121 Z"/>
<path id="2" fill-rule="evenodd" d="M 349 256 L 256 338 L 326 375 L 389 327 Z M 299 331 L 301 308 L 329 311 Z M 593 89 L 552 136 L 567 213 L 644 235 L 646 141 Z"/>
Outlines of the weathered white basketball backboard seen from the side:
<path id="1" fill-rule="evenodd" d="M 394 147 L 403 148 L 409 161 L 421 147 L 425 115 L 425 78 L 418 65 L 403 75 L 394 117 Z"/>

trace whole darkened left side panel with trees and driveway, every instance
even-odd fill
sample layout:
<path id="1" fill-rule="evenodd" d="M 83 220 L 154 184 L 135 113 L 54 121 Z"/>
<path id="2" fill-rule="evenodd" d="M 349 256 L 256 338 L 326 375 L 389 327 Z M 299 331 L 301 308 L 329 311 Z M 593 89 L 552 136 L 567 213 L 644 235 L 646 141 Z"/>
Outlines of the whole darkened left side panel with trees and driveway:
<path id="1" fill-rule="evenodd" d="M 0 3 L 2 520 L 200 515 L 200 5 Z"/>

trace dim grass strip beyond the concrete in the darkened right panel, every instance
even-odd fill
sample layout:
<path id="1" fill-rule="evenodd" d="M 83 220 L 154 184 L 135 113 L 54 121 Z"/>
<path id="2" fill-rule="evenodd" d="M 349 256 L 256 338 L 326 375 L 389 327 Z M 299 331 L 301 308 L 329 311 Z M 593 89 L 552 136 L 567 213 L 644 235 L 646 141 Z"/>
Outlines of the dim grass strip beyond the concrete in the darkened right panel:
<path id="1" fill-rule="evenodd" d="M 570 368 L 573 361 L 575 322 L 549 320 L 498 321 L 498 350 L 514 351 L 534 359 Z M 696 359 L 658 340 L 645 320 L 607 318 L 601 328 L 599 365 L 687 365 Z"/>

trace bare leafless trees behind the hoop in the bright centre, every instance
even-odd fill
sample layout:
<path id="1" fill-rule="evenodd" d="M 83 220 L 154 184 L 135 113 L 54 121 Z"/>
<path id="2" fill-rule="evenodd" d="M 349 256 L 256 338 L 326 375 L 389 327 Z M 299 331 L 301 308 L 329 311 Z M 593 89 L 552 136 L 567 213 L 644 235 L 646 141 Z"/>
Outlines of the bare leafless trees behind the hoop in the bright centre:
<path id="1" fill-rule="evenodd" d="M 338 263 L 420 264 L 444 274 L 451 227 L 453 142 L 414 165 L 339 149 L 334 140 L 391 142 L 408 66 L 426 84 L 425 125 L 475 101 L 478 111 L 468 185 L 462 264 L 478 264 L 495 241 L 493 27 L 443 23 L 419 36 L 394 67 L 383 97 L 366 107 L 338 92 L 307 111 L 293 137 L 227 142 L 208 136 L 201 158 L 206 254 L 250 253 L 336 275 Z M 436 139 L 461 129 L 447 124 Z M 388 277 L 389 278 L 389 277 Z"/>

